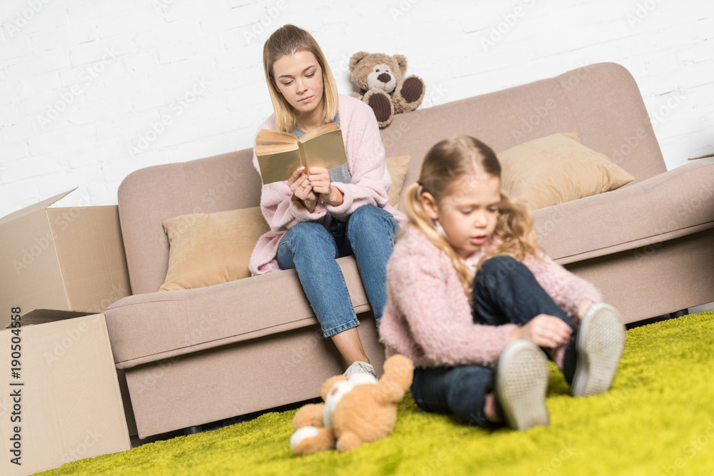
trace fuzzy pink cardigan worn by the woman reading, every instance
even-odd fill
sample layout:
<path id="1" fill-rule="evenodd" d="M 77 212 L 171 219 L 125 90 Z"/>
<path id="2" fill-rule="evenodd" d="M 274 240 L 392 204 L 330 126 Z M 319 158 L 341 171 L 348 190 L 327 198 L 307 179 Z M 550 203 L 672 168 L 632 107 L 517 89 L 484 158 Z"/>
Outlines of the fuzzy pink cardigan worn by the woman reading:
<path id="1" fill-rule="evenodd" d="M 339 206 L 318 203 L 313 213 L 300 203 L 291 200 L 292 192 L 288 182 L 263 185 L 261 191 L 261 211 L 270 231 L 258 239 L 253 248 L 248 268 L 251 275 L 272 273 L 280 270 L 275 260 L 278 244 L 283 235 L 301 221 L 329 223 L 330 217 L 346 220 L 353 211 L 363 205 L 376 205 L 391 213 L 397 222 L 406 223 L 403 213 L 387 203 L 392 180 L 384 161 L 384 146 L 379 135 L 377 120 L 366 103 L 350 96 L 339 96 L 338 111 L 340 128 L 347 153 L 347 168 L 352 175 L 351 183 L 333 183 L 344 194 Z M 258 127 L 274 129 L 275 116 L 270 116 Z M 258 173 L 258 158 L 253 143 L 253 166 Z"/>

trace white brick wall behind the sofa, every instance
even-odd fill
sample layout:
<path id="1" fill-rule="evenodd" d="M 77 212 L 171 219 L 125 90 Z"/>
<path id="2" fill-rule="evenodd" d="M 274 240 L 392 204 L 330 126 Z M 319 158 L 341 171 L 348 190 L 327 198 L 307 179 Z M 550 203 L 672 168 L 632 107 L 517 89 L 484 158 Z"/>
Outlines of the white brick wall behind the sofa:
<path id="1" fill-rule="evenodd" d="M 343 93 L 356 51 L 405 54 L 423 107 L 614 61 L 668 168 L 714 149 L 708 0 L 2 0 L 0 21 L 0 216 L 75 186 L 60 206 L 113 204 L 138 168 L 249 147 L 271 113 L 262 44 L 286 23 Z"/>

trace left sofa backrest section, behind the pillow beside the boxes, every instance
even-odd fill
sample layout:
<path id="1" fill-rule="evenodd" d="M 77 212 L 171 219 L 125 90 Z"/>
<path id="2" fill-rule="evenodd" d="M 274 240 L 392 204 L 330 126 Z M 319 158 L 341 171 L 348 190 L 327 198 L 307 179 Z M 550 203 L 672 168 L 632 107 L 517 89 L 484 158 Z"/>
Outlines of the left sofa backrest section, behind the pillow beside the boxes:
<path id="1" fill-rule="evenodd" d="M 253 150 L 142 168 L 117 192 L 132 294 L 158 291 L 169 268 L 169 238 L 161 222 L 189 213 L 259 206 L 261 178 Z"/>

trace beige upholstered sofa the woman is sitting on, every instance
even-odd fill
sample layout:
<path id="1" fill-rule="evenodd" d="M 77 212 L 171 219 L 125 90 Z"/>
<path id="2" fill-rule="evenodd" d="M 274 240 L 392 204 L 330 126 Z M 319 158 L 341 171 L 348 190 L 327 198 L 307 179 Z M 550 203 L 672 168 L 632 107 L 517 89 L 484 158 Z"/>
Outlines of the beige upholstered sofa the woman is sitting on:
<path id="1" fill-rule="evenodd" d="M 497 152 L 578 132 L 635 181 L 535 211 L 548 254 L 603 291 L 629 322 L 714 301 L 714 163 L 667 171 L 632 76 L 597 64 L 553 79 L 394 118 L 388 156 L 410 155 L 405 186 L 438 139 L 481 138 Z M 294 270 L 157 292 L 169 243 L 161 222 L 258 206 L 251 149 L 131 173 L 119 213 L 133 295 L 106 310 L 116 367 L 126 372 L 140 437 L 318 397 L 343 367 Z M 353 258 L 341 265 L 368 356 L 383 348 Z"/>

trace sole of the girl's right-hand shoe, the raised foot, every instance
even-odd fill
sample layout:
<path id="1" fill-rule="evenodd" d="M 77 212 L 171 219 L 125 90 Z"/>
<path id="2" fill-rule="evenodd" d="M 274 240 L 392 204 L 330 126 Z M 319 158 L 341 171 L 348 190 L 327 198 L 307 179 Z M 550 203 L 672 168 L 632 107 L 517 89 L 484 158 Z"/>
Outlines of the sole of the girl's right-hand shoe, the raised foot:
<path id="1" fill-rule="evenodd" d="M 575 397 L 610 390 L 625 348 L 625 325 L 620 313 L 605 303 L 593 304 L 583 316 L 575 340 L 578 355 L 570 393 Z"/>

